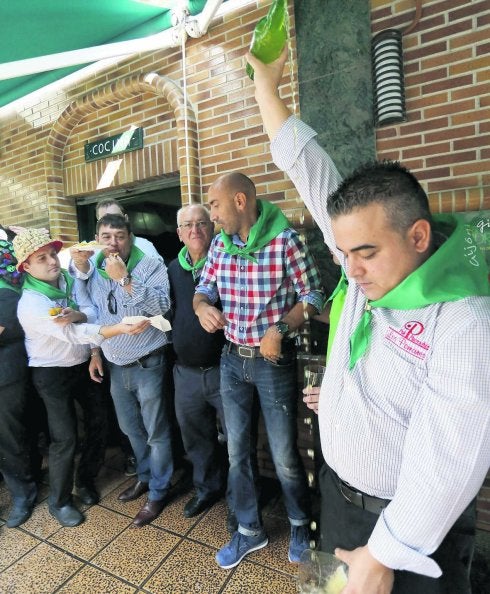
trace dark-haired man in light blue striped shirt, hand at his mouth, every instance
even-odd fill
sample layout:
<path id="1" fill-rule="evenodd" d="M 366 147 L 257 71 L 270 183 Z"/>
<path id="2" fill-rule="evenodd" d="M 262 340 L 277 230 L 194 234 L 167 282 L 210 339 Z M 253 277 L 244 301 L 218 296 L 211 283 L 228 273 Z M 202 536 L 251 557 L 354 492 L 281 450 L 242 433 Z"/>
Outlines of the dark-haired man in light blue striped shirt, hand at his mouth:
<path id="1" fill-rule="evenodd" d="M 133 244 L 129 222 L 108 214 L 97 222 L 97 241 L 106 245 L 94 266 L 91 252 L 78 263 L 81 276 L 98 309 L 100 323 L 120 322 L 125 316 L 157 316 L 170 307 L 165 265 L 146 256 Z M 148 500 L 135 517 L 135 526 L 154 520 L 165 506 L 173 473 L 168 403 L 163 394 L 165 347 L 168 338 L 152 327 L 141 340 L 116 339 L 102 345 L 108 361 L 111 395 L 119 426 L 136 456 L 137 480 L 119 495 L 132 501 L 148 492 Z M 102 358 L 95 355 L 91 369 L 103 375 Z"/>

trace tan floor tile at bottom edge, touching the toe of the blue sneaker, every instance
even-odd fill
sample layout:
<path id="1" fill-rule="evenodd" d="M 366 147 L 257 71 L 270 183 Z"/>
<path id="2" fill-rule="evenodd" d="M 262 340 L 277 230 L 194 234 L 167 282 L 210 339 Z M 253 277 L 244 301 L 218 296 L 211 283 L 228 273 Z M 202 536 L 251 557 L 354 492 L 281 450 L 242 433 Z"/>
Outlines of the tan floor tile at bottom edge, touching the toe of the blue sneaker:
<path id="1" fill-rule="evenodd" d="M 152 594 L 218 594 L 229 573 L 218 567 L 216 550 L 182 541 L 144 584 Z"/>

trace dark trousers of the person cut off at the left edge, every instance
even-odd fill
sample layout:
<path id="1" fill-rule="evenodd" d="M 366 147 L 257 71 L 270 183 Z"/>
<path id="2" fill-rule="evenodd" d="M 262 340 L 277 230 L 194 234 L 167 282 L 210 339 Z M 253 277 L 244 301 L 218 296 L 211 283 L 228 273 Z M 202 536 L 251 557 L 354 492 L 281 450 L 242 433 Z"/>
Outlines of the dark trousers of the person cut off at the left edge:
<path id="1" fill-rule="evenodd" d="M 31 505 L 37 494 L 25 425 L 26 405 L 25 380 L 0 388 L 0 471 L 18 506 Z"/>

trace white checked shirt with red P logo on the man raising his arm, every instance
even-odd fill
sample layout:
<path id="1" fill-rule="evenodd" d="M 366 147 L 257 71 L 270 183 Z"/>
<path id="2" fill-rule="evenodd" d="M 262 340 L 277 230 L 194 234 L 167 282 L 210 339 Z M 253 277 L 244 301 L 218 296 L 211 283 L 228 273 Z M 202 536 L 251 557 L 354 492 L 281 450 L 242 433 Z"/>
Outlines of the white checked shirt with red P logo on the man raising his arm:
<path id="1" fill-rule="evenodd" d="M 346 267 L 326 212 L 340 177 L 314 137 L 291 117 L 272 153 Z M 349 337 L 365 301 L 349 282 L 321 389 L 323 455 L 344 481 L 391 499 L 368 542 L 374 557 L 437 577 L 427 555 L 476 496 L 490 462 L 490 298 L 373 309 L 370 346 L 349 371 Z"/>

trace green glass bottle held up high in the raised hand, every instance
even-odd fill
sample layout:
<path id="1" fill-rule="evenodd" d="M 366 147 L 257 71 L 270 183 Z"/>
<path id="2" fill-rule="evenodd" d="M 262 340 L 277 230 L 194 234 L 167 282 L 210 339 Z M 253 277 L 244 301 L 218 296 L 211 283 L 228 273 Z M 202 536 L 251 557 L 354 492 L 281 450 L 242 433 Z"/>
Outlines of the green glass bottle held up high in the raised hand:
<path id="1" fill-rule="evenodd" d="M 264 64 L 269 64 L 281 55 L 288 37 L 287 0 L 274 0 L 267 15 L 255 25 L 250 53 Z M 247 74 L 253 80 L 254 70 L 247 63 Z"/>

